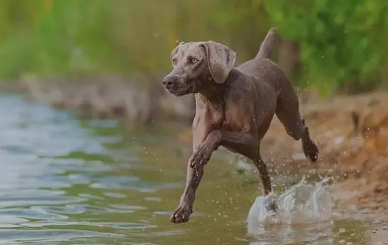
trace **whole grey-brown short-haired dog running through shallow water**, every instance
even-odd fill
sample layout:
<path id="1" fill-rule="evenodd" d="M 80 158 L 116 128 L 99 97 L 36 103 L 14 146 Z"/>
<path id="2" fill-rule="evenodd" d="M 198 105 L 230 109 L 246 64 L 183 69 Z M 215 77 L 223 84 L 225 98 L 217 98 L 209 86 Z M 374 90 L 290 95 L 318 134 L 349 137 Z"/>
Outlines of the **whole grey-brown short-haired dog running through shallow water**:
<path id="1" fill-rule="evenodd" d="M 270 29 L 256 57 L 237 68 L 233 68 L 236 53 L 214 42 L 180 43 L 171 52 L 174 69 L 163 79 L 165 89 L 176 96 L 195 93 L 196 100 L 193 154 L 186 187 L 171 222 L 189 220 L 203 166 L 220 145 L 252 159 L 264 193 L 271 192 L 260 142 L 274 114 L 292 138 L 302 139 L 305 155 L 317 160 L 318 148 L 300 118 L 295 91 L 284 72 L 269 60 L 275 36 L 275 30 Z"/>

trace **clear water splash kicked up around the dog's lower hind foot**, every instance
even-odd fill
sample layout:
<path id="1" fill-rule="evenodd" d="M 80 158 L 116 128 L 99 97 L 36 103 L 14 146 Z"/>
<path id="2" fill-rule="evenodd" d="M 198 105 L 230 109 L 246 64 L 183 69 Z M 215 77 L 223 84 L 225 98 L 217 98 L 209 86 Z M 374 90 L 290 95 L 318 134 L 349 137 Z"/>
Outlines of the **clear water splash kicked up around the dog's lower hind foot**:
<path id="1" fill-rule="evenodd" d="M 312 185 L 305 178 L 277 196 L 258 196 L 249 210 L 248 232 L 260 224 L 307 224 L 329 221 L 332 200 L 326 183 L 329 178 Z M 276 203 L 277 210 L 270 207 Z"/>

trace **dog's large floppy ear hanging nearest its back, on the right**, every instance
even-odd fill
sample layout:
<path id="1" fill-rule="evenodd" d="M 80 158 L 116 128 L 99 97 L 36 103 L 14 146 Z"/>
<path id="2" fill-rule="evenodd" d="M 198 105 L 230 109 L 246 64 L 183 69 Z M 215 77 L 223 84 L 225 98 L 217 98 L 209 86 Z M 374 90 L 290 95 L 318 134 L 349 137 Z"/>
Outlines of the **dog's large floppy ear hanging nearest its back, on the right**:
<path id="1" fill-rule="evenodd" d="M 225 45 L 206 42 L 202 44 L 207 54 L 207 67 L 215 83 L 222 84 L 236 62 L 236 53 Z"/>

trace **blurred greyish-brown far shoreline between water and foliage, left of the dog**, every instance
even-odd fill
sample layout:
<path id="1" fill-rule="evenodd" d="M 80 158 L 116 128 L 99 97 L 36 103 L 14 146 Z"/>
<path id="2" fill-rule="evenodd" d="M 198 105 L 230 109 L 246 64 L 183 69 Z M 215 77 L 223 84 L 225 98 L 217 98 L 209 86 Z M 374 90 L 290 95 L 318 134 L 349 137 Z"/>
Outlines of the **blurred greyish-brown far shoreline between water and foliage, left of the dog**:
<path id="1" fill-rule="evenodd" d="M 35 77 L 0 83 L 0 91 L 25 93 L 35 101 L 79 116 L 114 118 L 134 125 L 157 120 L 190 122 L 194 117 L 194 96 L 175 97 L 161 86 L 160 77 L 119 76 L 74 81 L 38 80 Z M 131 83 L 130 81 L 135 81 Z"/>

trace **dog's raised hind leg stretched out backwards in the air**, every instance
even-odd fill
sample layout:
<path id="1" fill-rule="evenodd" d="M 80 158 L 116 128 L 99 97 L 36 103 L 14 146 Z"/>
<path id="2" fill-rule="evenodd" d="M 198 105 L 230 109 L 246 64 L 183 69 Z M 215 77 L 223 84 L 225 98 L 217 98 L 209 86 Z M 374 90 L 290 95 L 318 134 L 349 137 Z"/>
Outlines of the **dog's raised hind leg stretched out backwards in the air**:
<path id="1" fill-rule="evenodd" d="M 316 161 L 318 159 L 318 147 L 311 140 L 309 128 L 300 117 L 298 98 L 288 80 L 284 81 L 283 88 L 279 93 L 276 116 L 282 122 L 289 136 L 295 140 L 301 139 L 306 157 L 311 161 Z"/>

